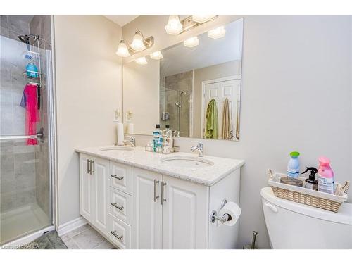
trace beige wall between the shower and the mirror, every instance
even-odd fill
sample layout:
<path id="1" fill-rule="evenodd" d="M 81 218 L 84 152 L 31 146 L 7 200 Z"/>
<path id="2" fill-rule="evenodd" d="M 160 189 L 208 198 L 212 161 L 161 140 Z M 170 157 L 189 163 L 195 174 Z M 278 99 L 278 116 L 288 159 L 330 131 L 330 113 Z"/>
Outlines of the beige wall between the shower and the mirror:
<path id="1" fill-rule="evenodd" d="M 121 108 L 121 28 L 103 16 L 54 17 L 58 142 L 58 225 L 80 216 L 75 147 L 113 144 Z"/>

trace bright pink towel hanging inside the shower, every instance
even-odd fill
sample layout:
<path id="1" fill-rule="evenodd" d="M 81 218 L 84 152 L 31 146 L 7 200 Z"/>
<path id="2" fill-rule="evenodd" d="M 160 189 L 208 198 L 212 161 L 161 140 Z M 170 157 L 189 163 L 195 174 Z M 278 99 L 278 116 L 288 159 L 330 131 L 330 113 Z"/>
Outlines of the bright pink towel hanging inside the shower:
<path id="1" fill-rule="evenodd" d="M 27 135 L 37 134 L 37 122 L 39 122 L 37 98 L 37 85 L 26 84 L 20 106 L 25 107 L 25 133 Z M 37 139 L 27 139 L 27 145 L 37 144 Z"/>

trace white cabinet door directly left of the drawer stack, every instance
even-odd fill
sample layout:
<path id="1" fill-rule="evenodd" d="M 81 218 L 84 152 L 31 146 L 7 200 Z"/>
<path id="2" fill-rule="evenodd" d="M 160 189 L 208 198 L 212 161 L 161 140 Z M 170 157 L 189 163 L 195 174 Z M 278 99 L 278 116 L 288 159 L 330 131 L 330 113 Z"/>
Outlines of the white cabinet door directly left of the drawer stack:
<path id="1" fill-rule="evenodd" d="M 94 222 L 101 232 L 108 232 L 108 176 L 109 161 L 103 158 L 92 158 L 94 172 Z"/>

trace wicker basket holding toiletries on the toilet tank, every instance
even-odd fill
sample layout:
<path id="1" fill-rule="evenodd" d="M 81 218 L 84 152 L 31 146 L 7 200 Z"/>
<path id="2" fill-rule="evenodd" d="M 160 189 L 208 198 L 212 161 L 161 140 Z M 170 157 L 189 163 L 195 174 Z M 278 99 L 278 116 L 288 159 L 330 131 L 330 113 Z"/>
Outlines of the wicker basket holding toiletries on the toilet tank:
<path id="1" fill-rule="evenodd" d="M 289 184 L 283 184 L 280 182 L 281 177 L 287 177 L 287 175 L 282 173 L 272 174 L 271 170 L 269 170 L 269 181 L 272 192 L 275 196 L 286 199 L 289 201 L 294 201 L 296 203 L 303 203 L 307 206 L 313 206 L 317 208 L 321 208 L 324 210 L 329 210 L 334 213 L 337 213 L 341 203 L 347 201 L 347 191 L 349 187 L 349 182 L 344 184 L 344 193 L 343 195 L 334 195 L 334 194 L 326 194 L 321 191 L 314 191 L 311 189 L 306 189 L 303 187 L 296 187 Z M 304 177 L 299 177 L 299 180 L 306 180 Z M 335 184 L 338 186 L 339 184 Z M 340 185 L 341 186 L 341 185 Z"/>

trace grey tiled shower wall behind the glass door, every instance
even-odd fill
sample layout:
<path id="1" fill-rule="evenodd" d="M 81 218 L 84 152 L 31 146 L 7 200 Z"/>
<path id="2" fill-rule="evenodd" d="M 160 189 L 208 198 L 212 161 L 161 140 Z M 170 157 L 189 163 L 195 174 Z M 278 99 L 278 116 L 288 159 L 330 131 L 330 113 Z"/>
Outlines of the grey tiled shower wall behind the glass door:
<path id="1" fill-rule="evenodd" d="M 23 88 L 27 83 L 23 71 L 28 61 L 22 58 L 27 48 L 18 40 L 20 34 L 39 34 L 50 30 L 49 16 L 1 15 L 1 82 L 0 82 L 0 134 L 25 134 L 25 111 L 19 106 Z M 49 18 L 49 20 L 48 20 Z M 37 22 L 39 21 L 39 23 Z M 49 26 L 42 23 L 49 22 Z M 46 37 L 50 36 L 46 32 Z M 49 38 L 50 39 L 50 38 Z M 42 42 L 42 48 L 50 48 L 50 42 Z M 46 51 L 42 50 L 42 103 L 39 127 L 48 131 L 46 99 Z M 49 173 L 48 143 L 27 146 L 25 140 L 1 141 L 1 196 L 0 210 L 5 212 L 37 202 L 45 213 L 49 214 Z"/>

